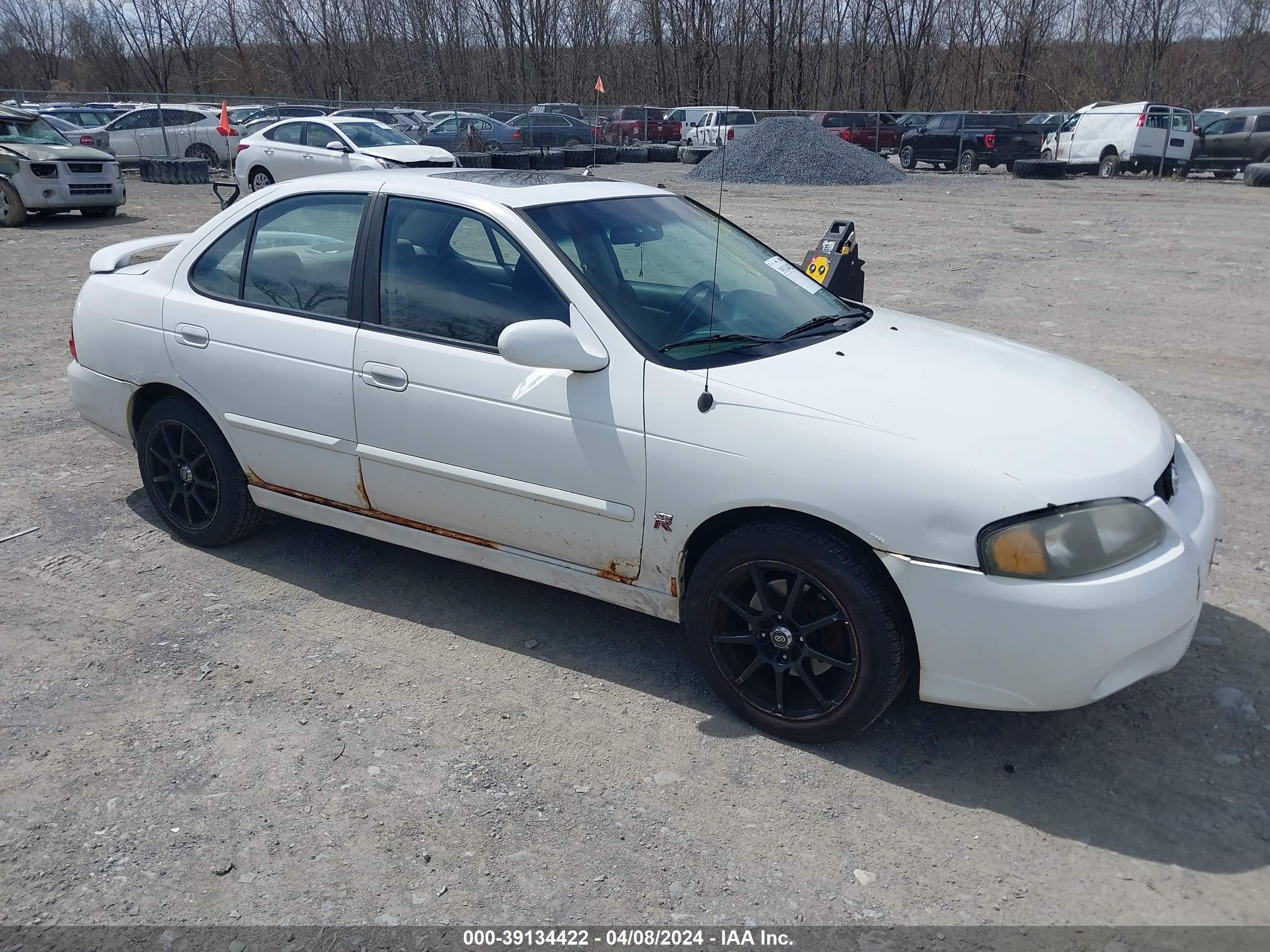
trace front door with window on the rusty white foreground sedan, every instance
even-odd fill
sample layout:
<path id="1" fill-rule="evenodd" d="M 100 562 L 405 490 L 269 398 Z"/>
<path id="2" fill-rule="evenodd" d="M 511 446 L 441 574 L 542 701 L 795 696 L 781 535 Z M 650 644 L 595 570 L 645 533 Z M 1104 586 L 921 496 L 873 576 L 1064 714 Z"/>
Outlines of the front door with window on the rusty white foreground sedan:
<path id="1" fill-rule="evenodd" d="M 508 324 L 589 326 L 508 228 L 471 211 L 389 198 L 377 256 L 380 324 L 357 334 L 353 385 L 370 505 L 636 578 L 643 359 L 596 373 L 504 360 Z"/>

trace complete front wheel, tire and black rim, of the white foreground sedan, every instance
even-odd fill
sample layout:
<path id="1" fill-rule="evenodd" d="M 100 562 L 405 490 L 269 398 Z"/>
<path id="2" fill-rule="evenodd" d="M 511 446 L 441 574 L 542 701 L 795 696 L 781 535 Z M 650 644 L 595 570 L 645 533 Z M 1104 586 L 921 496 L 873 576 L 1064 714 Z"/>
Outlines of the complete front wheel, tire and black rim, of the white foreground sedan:
<path id="1" fill-rule="evenodd" d="M 688 647 L 733 711 L 786 740 L 842 740 L 894 701 L 907 616 L 870 565 L 819 528 L 735 529 L 701 557 L 683 603 Z"/>

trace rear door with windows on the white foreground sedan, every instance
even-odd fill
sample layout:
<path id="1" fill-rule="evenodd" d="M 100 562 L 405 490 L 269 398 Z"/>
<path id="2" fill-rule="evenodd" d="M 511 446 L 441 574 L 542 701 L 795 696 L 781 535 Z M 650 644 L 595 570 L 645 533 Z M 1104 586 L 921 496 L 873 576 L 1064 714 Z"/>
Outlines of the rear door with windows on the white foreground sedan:
<path id="1" fill-rule="evenodd" d="M 260 208 L 190 254 L 163 308 L 173 369 L 250 473 L 347 505 L 362 505 L 349 287 L 366 204 L 312 193 Z"/>

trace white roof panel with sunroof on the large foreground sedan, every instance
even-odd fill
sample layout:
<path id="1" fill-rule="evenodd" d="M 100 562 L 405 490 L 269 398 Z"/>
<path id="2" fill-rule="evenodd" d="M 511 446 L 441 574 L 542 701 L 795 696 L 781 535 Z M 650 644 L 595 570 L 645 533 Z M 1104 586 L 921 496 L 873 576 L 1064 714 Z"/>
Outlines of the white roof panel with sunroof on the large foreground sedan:
<path id="1" fill-rule="evenodd" d="M 378 192 L 408 198 L 432 198 L 474 206 L 481 201 L 508 208 L 531 208 L 561 202 L 636 195 L 669 195 L 671 192 L 634 182 L 569 175 L 559 171 L 516 169 L 396 169 L 390 171 L 342 171 L 310 175 L 278 183 L 276 193 L 287 195 L 338 190 Z"/>

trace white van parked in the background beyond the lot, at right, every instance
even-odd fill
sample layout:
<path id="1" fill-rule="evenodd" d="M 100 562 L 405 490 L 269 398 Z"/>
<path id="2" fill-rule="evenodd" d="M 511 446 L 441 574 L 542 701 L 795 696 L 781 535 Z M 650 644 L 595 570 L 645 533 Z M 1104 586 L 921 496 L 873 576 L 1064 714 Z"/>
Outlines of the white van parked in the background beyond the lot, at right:
<path id="1" fill-rule="evenodd" d="M 1172 171 L 1190 161 L 1195 118 L 1189 109 L 1160 103 L 1086 105 L 1045 141 L 1045 151 L 1100 178 L 1121 171 Z M 1163 157 L 1163 162 L 1161 162 Z M 1161 168 L 1162 166 L 1162 168 Z"/>

